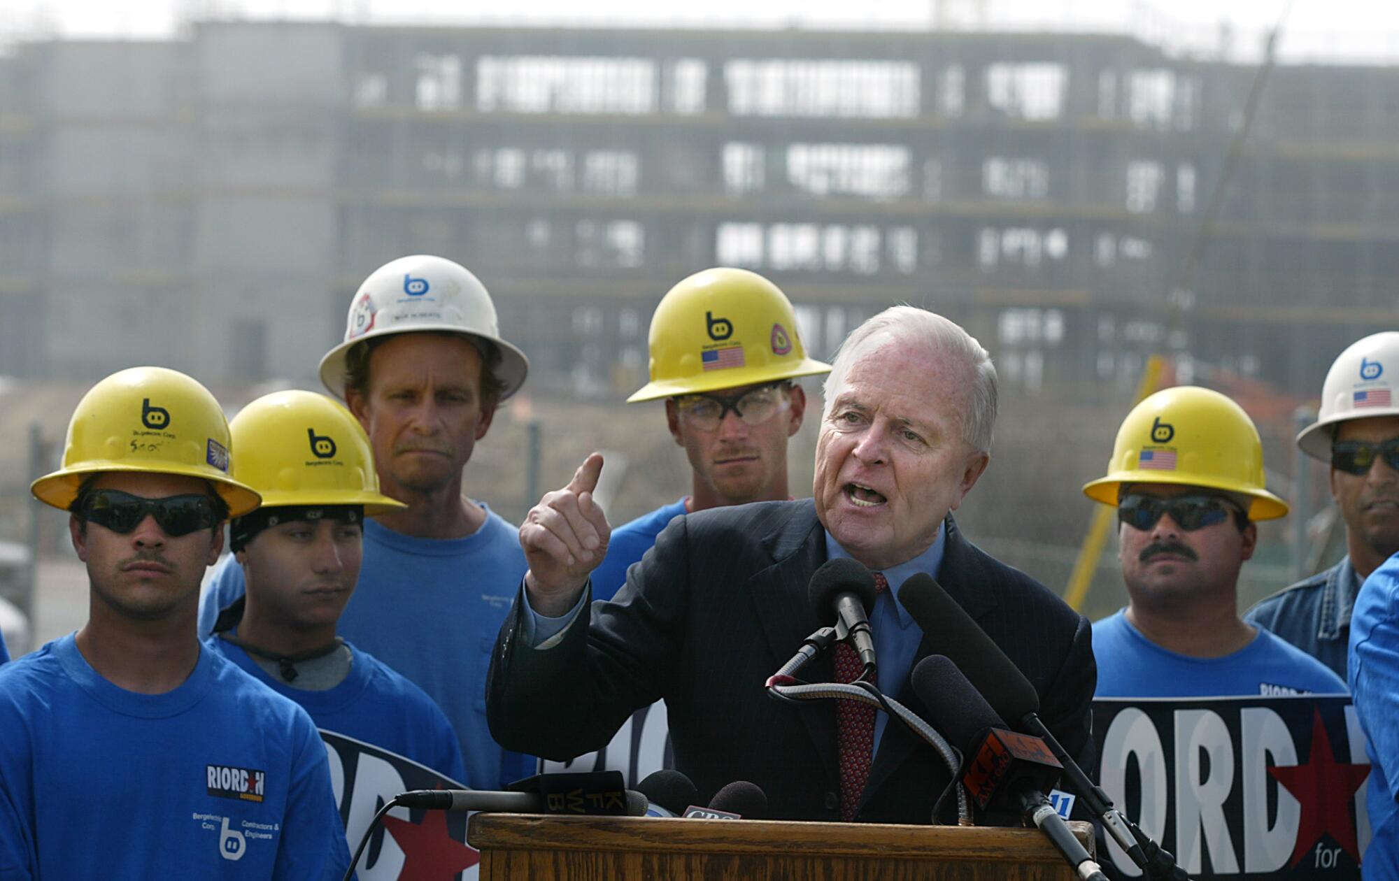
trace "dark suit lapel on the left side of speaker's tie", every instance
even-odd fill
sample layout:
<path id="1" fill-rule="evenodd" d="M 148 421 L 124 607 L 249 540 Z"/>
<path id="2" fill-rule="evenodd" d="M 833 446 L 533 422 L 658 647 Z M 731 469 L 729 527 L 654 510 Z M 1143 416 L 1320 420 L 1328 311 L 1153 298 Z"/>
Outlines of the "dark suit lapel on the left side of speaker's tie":
<path id="1" fill-rule="evenodd" d="M 772 654 L 772 673 L 802 646 L 802 640 L 821 626 L 807 601 L 811 573 L 825 562 L 825 530 L 816 519 L 816 506 L 807 499 L 795 516 L 779 524 L 762 540 L 774 564 L 748 579 L 758 622 Z M 799 674 L 811 682 L 830 682 L 834 677 L 831 653 L 816 659 Z M 769 698 L 764 698 L 769 699 Z M 835 712 L 828 701 L 810 701 L 792 708 L 821 757 L 827 775 L 837 779 Z"/>

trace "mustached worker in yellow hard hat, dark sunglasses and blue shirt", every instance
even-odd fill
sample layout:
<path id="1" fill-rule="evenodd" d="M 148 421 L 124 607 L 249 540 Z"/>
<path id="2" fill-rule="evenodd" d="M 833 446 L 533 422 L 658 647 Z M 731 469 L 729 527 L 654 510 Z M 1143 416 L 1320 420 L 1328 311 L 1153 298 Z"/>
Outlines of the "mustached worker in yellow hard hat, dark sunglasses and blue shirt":
<path id="1" fill-rule="evenodd" d="M 1182 386 L 1137 404 L 1108 475 L 1084 495 L 1118 509 L 1128 606 L 1093 625 L 1098 698 L 1343 694 L 1321 661 L 1238 617 L 1258 520 L 1287 515 L 1263 487 L 1242 407 Z"/>

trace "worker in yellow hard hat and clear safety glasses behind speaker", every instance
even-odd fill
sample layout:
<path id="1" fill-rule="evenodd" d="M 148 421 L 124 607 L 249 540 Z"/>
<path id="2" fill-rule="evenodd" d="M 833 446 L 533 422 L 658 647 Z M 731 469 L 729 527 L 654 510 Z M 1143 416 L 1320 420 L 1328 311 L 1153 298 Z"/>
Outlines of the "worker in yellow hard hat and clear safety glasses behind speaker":
<path id="1" fill-rule="evenodd" d="M 666 427 L 690 460 L 691 489 L 613 530 L 592 573 L 595 600 L 617 593 L 627 569 L 679 515 L 789 499 L 788 439 L 806 413 L 806 392 L 795 380 L 831 369 L 806 357 L 786 295 L 739 268 L 709 268 L 670 288 L 651 317 L 648 345 L 651 382 L 627 403 L 665 399 Z M 621 771 L 635 783 L 663 764 L 666 733 L 656 703 L 582 765 Z"/>

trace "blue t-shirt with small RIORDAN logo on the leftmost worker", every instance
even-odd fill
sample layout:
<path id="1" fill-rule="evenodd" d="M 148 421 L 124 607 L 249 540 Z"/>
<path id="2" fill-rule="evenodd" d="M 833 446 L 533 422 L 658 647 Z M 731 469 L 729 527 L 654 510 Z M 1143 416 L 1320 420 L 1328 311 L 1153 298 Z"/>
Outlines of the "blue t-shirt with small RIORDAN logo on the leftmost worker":
<path id="1" fill-rule="evenodd" d="M 326 748 L 304 709 L 213 652 L 126 691 L 73 635 L 0 667 L 0 881 L 339 881 Z"/>

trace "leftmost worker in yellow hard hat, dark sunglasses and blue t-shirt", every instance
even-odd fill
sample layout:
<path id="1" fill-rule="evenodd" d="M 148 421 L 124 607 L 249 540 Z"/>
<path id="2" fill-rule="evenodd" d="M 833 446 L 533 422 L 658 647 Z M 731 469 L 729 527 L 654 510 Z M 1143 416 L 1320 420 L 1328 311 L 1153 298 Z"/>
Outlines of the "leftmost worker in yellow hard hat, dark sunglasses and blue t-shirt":
<path id="1" fill-rule="evenodd" d="M 235 454 L 208 390 L 133 368 L 83 397 L 34 482 L 91 593 L 76 633 L 0 667 L 0 878 L 344 874 L 311 717 L 196 635 L 224 522 L 259 502 Z"/>

